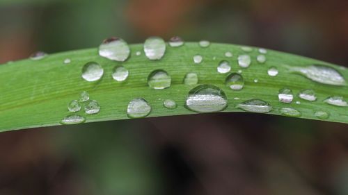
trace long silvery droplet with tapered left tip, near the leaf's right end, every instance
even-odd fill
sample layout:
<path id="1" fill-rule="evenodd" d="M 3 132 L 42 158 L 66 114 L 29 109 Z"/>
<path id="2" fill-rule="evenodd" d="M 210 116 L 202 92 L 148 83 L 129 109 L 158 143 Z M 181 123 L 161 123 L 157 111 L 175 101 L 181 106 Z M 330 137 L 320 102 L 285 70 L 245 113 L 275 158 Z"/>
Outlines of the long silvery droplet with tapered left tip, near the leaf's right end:
<path id="1" fill-rule="evenodd" d="M 290 71 L 306 76 L 310 80 L 328 85 L 347 85 L 345 78 L 339 71 L 324 65 L 310 65 L 308 67 L 290 67 Z"/>

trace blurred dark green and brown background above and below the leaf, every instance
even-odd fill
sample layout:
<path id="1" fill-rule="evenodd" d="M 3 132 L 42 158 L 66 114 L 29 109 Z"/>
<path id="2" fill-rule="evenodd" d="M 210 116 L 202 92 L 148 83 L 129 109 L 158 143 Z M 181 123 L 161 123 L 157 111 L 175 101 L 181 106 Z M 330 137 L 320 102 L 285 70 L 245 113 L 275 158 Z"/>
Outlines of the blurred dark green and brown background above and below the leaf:
<path id="1" fill-rule="evenodd" d="M 34 51 L 210 40 L 348 64 L 347 0 L 1 0 L 0 63 Z M 348 194 L 348 125 L 253 113 L 0 133 L 0 195 Z"/>

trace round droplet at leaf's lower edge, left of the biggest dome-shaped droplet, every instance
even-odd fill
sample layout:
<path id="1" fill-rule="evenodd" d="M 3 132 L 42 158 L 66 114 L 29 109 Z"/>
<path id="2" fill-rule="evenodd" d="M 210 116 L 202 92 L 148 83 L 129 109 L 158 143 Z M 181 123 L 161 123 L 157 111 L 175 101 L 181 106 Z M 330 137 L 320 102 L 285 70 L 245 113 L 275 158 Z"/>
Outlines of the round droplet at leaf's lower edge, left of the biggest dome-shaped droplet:
<path id="1" fill-rule="evenodd" d="M 129 102 L 127 107 L 127 115 L 129 118 L 146 117 L 151 112 L 150 103 L 145 99 L 133 99 Z"/>

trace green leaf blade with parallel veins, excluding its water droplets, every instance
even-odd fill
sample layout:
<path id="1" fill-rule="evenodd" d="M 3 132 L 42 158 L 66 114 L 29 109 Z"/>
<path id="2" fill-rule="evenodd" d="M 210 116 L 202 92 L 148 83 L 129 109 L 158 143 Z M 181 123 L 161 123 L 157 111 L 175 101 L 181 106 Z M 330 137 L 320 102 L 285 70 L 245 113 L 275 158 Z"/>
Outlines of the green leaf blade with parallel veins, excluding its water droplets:
<path id="1" fill-rule="evenodd" d="M 207 48 L 200 47 L 196 42 L 187 42 L 179 47 L 167 44 L 166 53 L 161 60 L 148 60 L 143 52 L 143 44 L 132 44 L 130 48 L 131 56 L 125 62 L 102 58 L 98 55 L 97 49 L 83 49 L 50 54 L 41 60 L 26 59 L 1 65 L 0 130 L 61 125 L 61 120 L 72 114 L 68 110 L 68 103 L 74 99 L 78 100 L 79 94 L 83 91 L 90 94 L 90 99 L 100 103 L 100 112 L 97 114 L 88 115 L 84 113 L 84 109 L 77 112 L 77 115 L 86 118 L 86 122 L 129 119 L 127 105 L 136 98 L 145 99 L 150 103 L 152 110 L 148 117 L 196 114 L 197 112 L 188 110 L 184 105 L 189 90 L 200 84 L 215 85 L 225 92 L 228 108 L 222 112 L 244 112 L 236 107 L 239 103 L 261 99 L 272 106 L 269 112 L 271 115 L 282 115 L 281 108 L 293 108 L 301 113 L 300 118 L 318 119 L 315 112 L 324 111 L 329 113 L 329 118 L 321 120 L 348 123 L 347 107 L 324 103 L 326 98 L 333 95 L 346 99 L 347 84 L 341 82 L 340 85 L 332 85 L 337 80 L 331 80 L 331 85 L 322 84 L 318 80 L 315 81 L 313 75 L 306 77 L 306 73 L 296 71 L 310 65 L 324 65 L 332 67 L 340 72 L 343 78 L 347 78 L 348 71 L 342 67 L 271 50 L 264 54 L 266 62 L 260 63 L 256 60 L 260 55 L 258 48 L 246 52 L 241 46 L 232 44 L 210 44 Z M 136 55 L 137 51 L 141 51 L 140 56 Z M 233 56 L 226 57 L 226 51 L 230 51 Z M 197 54 L 203 56 L 200 64 L 193 62 L 193 56 Z M 242 54 L 251 56 L 250 67 L 239 67 L 237 58 Z M 64 60 L 67 58 L 71 62 L 65 64 Z M 245 81 L 242 90 L 230 90 L 226 87 L 225 79 L 228 73 L 220 74 L 217 71 L 221 60 L 230 62 L 230 72 L 242 70 Z M 102 79 L 88 82 L 81 77 L 81 69 L 87 62 L 102 65 Z M 113 80 L 111 73 L 117 65 L 129 70 L 127 80 Z M 279 74 L 269 76 L 267 70 L 270 67 L 276 67 Z M 164 90 L 148 87 L 148 75 L 156 69 L 168 72 L 171 76 L 171 87 Z M 198 74 L 198 85 L 184 85 L 184 76 L 189 72 Z M 258 80 L 257 83 L 254 82 L 255 79 Z M 289 87 L 294 93 L 292 103 L 281 103 L 278 100 L 278 91 L 283 87 Z M 303 89 L 314 90 L 317 100 L 299 99 L 298 94 Z M 165 108 L 163 103 L 166 99 L 175 101 L 177 107 Z M 297 104 L 296 101 L 301 103 Z M 287 114 L 289 113 L 283 113 Z"/>

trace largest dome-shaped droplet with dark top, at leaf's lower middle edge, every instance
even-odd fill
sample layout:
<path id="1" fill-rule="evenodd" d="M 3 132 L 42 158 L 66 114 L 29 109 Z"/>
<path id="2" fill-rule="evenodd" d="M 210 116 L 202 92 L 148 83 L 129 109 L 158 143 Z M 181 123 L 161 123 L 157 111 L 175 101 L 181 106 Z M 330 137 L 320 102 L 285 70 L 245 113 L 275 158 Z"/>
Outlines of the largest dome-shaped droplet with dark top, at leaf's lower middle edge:
<path id="1" fill-rule="evenodd" d="M 225 92 L 214 85 L 198 85 L 187 94 L 185 106 L 194 112 L 218 112 L 227 107 Z"/>

